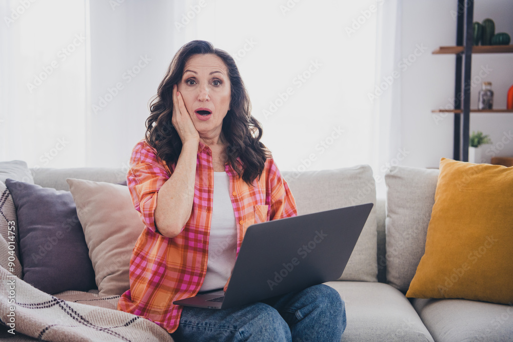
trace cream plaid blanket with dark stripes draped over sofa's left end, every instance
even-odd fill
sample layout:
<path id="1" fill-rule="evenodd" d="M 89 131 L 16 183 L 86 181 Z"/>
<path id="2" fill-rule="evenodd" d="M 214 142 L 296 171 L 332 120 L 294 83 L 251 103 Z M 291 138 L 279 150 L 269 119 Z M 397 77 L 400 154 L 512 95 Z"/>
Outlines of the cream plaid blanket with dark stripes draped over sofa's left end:
<path id="1" fill-rule="evenodd" d="M 152 321 L 115 310 L 120 296 L 78 291 L 52 296 L 3 267 L 0 284 L 0 323 L 6 326 L 0 329 L 2 340 L 172 341 Z"/>

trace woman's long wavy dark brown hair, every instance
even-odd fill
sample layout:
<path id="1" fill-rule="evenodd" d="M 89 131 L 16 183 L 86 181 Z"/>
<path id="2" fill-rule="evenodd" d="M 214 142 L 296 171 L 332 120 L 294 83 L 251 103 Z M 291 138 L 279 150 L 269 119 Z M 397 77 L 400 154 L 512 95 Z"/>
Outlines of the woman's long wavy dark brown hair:
<path id="1" fill-rule="evenodd" d="M 145 140 L 156 150 L 157 157 L 164 160 L 166 164 L 177 162 L 182 151 L 182 140 L 171 123 L 172 91 L 173 85 L 181 81 L 188 59 L 195 54 L 215 54 L 223 60 L 228 69 L 231 83 L 231 109 L 223 119 L 222 127 L 228 143 L 226 157 L 239 177 L 251 185 L 257 177 L 260 179 L 265 161 L 271 154 L 260 142 L 262 126 L 251 115 L 248 91 L 235 61 L 226 51 L 214 48 L 210 42 L 189 42 L 174 55 L 166 76 L 157 89 L 157 94 L 151 99 L 151 114 L 146 119 Z"/>

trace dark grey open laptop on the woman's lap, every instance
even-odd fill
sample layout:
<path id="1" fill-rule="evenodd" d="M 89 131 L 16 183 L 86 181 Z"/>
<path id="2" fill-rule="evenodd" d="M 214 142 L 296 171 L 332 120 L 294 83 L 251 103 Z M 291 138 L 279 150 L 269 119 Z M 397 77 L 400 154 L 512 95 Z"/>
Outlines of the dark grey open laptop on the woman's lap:
<path id="1" fill-rule="evenodd" d="M 271 220 L 248 227 L 223 289 L 173 304 L 227 309 L 337 280 L 373 204 Z"/>

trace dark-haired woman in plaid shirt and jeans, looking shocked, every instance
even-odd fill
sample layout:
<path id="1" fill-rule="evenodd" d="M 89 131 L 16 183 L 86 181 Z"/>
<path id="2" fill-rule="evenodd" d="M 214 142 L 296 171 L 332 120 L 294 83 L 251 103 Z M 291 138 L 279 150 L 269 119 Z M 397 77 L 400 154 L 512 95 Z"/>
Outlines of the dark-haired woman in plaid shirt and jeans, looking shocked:
<path id="1" fill-rule="evenodd" d="M 224 288 L 250 225 L 297 215 L 294 198 L 251 116 L 233 58 L 184 45 L 161 82 L 127 183 L 145 229 L 118 309 L 177 340 L 340 341 L 344 303 L 325 285 L 232 309 L 173 305 Z"/>

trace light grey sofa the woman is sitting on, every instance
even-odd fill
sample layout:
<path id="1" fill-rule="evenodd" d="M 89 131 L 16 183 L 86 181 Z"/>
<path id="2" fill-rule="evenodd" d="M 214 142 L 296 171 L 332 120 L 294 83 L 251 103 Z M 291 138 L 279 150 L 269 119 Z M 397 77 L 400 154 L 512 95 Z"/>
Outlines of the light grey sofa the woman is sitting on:
<path id="1" fill-rule="evenodd" d="M 41 168 L 31 169 L 31 173 L 35 184 L 69 190 L 66 178 L 119 183 L 125 180 L 126 170 Z M 282 173 L 299 214 L 375 204 L 341 279 L 327 283 L 339 291 L 346 304 L 347 328 L 342 341 L 513 340 L 512 306 L 405 297 L 424 252 L 438 170 L 394 167 L 380 179 L 388 190 L 387 198 L 378 200 L 369 166 Z"/>

